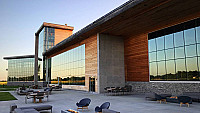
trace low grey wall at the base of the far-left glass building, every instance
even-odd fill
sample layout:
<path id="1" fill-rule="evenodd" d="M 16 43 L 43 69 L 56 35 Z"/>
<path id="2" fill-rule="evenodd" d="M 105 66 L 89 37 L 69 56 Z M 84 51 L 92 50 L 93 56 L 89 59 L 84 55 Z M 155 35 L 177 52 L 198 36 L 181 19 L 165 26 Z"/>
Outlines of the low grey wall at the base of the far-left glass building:
<path id="1" fill-rule="evenodd" d="M 23 84 L 25 86 L 30 86 L 33 85 L 34 82 L 7 82 L 8 86 L 23 86 Z M 43 86 L 43 82 L 38 82 L 39 86 Z"/>

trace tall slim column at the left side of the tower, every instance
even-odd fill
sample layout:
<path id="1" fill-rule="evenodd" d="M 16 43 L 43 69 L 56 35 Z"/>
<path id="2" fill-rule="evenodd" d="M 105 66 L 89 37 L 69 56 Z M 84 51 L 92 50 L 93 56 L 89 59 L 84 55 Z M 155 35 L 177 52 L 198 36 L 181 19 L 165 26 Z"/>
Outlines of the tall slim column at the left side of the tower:
<path id="1" fill-rule="evenodd" d="M 34 85 L 38 85 L 38 44 L 39 44 L 39 35 L 35 34 Z"/>

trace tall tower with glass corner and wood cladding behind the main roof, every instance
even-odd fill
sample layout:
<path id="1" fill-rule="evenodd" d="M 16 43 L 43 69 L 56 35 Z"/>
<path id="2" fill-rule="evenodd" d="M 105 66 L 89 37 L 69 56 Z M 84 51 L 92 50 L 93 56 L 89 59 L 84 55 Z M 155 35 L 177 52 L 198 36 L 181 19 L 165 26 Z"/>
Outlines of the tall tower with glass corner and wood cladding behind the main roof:
<path id="1" fill-rule="evenodd" d="M 44 22 L 38 31 L 35 33 L 35 85 L 38 85 L 38 81 L 43 81 L 44 85 L 47 81 L 51 80 L 51 58 L 45 60 L 45 57 L 42 56 L 43 52 L 46 52 L 49 48 L 58 44 L 63 39 L 71 36 L 73 33 L 74 27 L 65 25 L 58 25 L 52 23 Z M 38 80 L 38 57 L 42 58 L 42 71 L 40 73 L 40 80 Z M 47 63 L 48 62 L 48 63 Z M 48 64 L 48 65 L 47 65 Z M 48 75 L 46 76 L 46 73 Z"/>

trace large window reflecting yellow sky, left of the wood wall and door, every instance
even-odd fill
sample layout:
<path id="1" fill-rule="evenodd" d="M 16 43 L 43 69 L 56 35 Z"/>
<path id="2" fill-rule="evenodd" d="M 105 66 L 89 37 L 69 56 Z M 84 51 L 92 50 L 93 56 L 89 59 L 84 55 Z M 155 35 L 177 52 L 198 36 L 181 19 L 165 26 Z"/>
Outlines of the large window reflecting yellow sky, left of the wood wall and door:
<path id="1" fill-rule="evenodd" d="M 52 57 L 51 83 L 85 85 L 85 44 Z"/>

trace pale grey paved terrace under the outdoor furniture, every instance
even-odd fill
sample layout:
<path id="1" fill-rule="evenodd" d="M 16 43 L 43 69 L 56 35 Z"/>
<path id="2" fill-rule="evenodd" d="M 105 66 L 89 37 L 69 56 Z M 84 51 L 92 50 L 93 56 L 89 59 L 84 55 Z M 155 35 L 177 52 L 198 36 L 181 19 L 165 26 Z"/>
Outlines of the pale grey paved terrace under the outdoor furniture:
<path id="1" fill-rule="evenodd" d="M 110 109 L 120 111 L 121 113 L 199 113 L 200 103 L 193 102 L 190 107 L 183 105 L 179 107 L 177 103 L 162 103 L 156 101 L 147 101 L 144 95 L 126 95 L 126 96 L 104 96 L 103 94 L 92 94 L 84 91 L 63 90 L 52 91 L 49 101 L 46 98 L 43 103 L 32 103 L 32 99 L 28 99 L 28 104 L 25 104 L 25 96 L 19 96 L 11 91 L 18 100 L 0 101 L 0 113 L 9 113 L 9 105 L 16 103 L 19 107 L 49 104 L 53 106 L 53 113 L 60 113 L 61 110 L 76 109 L 75 103 L 80 99 L 88 97 L 91 104 L 89 110 L 84 113 L 94 113 L 94 108 L 101 105 L 103 102 L 110 102 Z"/>

